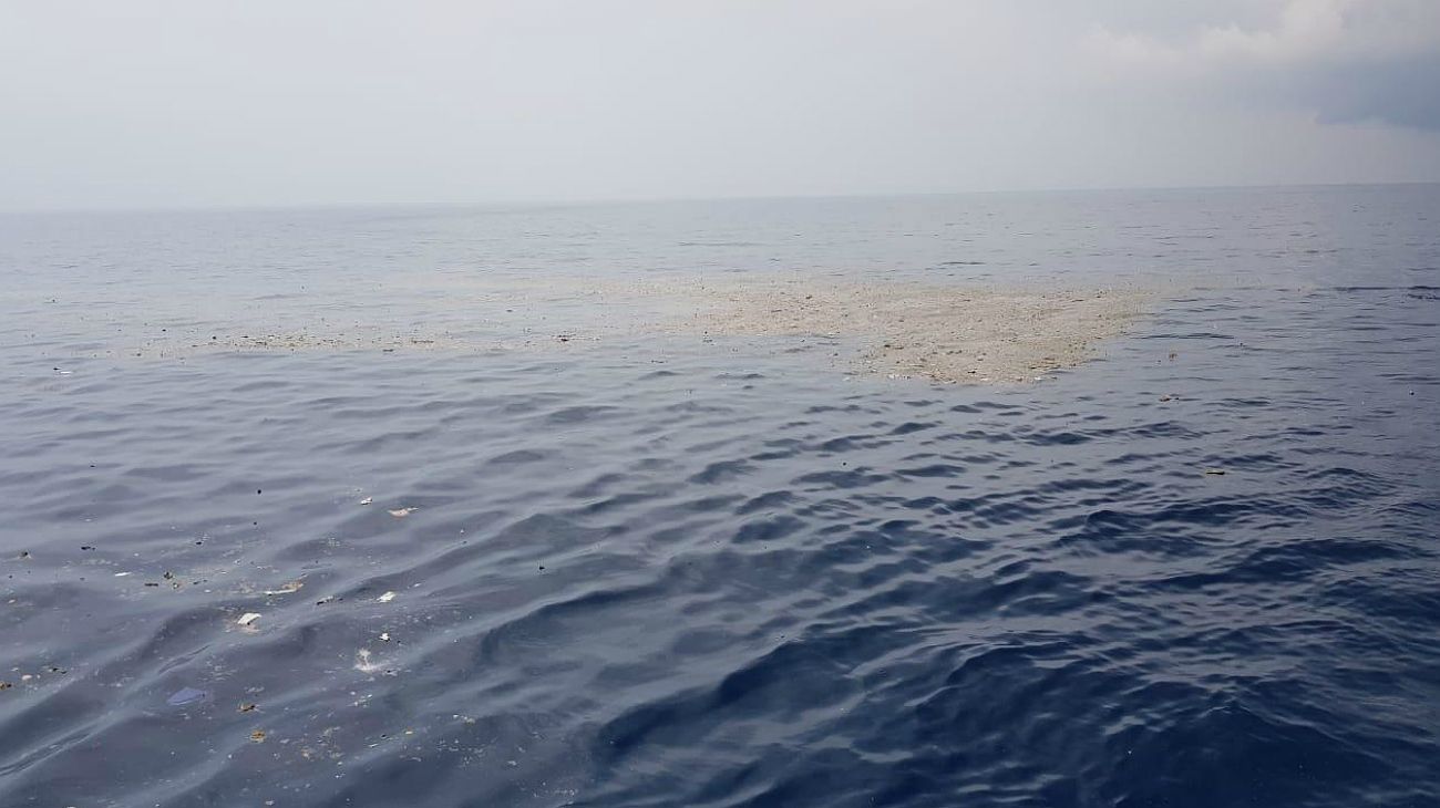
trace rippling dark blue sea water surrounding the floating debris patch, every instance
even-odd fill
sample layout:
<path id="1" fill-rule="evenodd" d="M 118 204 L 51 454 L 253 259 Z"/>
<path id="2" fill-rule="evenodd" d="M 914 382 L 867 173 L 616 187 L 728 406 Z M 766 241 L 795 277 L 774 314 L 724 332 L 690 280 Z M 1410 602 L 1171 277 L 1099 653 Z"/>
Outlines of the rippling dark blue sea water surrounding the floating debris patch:
<path id="1" fill-rule="evenodd" d="M 734 272 L 1162 292 L 986 388 L 471 288 Z M 0 345 L 4 807 L 1440 805 L 1437 185 L 9 214 Z"/>

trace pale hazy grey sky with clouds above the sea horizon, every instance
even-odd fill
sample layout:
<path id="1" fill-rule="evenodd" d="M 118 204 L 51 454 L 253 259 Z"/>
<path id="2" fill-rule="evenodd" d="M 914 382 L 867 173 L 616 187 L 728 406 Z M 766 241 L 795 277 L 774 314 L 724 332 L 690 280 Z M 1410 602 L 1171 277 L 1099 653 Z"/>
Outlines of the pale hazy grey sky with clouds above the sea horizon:
<path id="1" fill-rule="evenodd" d="M 1440 0 L 0 0 L 0 208 L 1440 180 Z"/>

